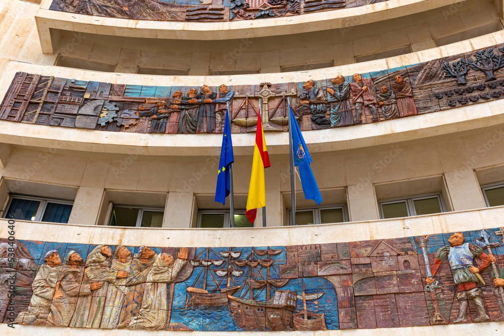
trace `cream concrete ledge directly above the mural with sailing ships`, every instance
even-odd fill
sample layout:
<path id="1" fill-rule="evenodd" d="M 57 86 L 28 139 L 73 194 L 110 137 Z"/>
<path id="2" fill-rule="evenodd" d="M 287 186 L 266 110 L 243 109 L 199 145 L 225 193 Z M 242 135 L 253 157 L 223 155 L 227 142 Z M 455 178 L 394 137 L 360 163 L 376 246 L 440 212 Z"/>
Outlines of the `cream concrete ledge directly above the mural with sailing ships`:
<path id="1" fill-rule="evenodd" d="M 235 229 L 126 228 L 16 220 L 14 236 L 19 240 L 80 244 L 141 246 L 148 243 L 153 247 L 325 244 L 491 229 L 501 226 L 503 212 L 504 206 L 501 206 L 374 221 Z M 0 237 L 9 236 L 7 222 L 0 219 Z"/>

